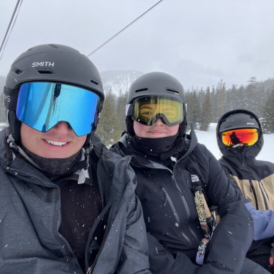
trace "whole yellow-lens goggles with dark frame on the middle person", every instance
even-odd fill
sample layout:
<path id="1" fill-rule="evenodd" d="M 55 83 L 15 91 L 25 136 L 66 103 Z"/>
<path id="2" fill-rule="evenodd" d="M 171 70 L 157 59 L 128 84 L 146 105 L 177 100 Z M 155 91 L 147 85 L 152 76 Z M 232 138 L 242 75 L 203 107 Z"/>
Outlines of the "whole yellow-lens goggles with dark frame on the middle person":
<path id="1" fill-rule="evenodd" d="M 183 121 L 184 104 L 180 99 L 167 96 L 145 96 L 137 98 L 127 105 L 127 115 L 133 120 L 152 126 L 158 118 L 169 127 Z"/>

